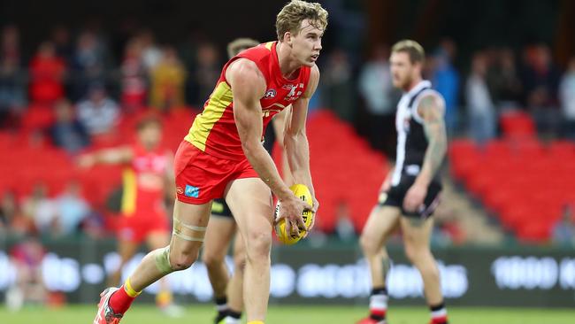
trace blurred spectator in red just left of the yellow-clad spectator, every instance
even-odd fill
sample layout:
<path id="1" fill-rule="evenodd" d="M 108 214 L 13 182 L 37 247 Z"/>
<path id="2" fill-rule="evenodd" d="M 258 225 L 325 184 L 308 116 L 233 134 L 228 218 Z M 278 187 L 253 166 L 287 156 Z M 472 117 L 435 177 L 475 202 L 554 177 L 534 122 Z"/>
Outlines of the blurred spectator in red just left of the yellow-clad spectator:
<path id="1" fill-rule="evenodd" d="M 120 71 L 123 110 L 134 112 L 142 109 L 147 96 L 147 73 L 142 60 L 142 42 L 138 38 L 127 42 Z"/>

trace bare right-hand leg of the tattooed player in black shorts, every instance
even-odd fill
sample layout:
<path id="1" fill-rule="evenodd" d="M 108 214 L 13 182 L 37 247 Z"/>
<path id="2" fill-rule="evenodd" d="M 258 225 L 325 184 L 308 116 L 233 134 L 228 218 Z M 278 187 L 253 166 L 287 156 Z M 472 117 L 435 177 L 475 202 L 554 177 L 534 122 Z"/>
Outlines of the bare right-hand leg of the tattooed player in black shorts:
<path id="1" fill-rule="evenodd" d="M 421 274 L 427 303 L 429 305 L 441 305 L 443 297 L 441 295 L 440 273 L 430 249 L 433 219 L 422 220 L 402 217 L 401 224 L 405 254 Z"/>

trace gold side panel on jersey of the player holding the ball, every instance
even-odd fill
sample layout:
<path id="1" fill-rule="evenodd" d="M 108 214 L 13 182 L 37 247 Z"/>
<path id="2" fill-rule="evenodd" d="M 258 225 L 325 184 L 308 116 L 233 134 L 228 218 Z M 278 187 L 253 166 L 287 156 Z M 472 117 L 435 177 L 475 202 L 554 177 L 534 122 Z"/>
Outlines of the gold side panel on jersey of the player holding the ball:
<path id="1" fill-rule="evenodd" d="M 208 104 L 203 108 L 203 112 L 197 115 L 192 127 L 189 128 L 188 135 L 186 135 L 184 139 L 192 143 L 196 148 L 205 151 L 205 145 L 208 141 L 211 128 L 213 128 L 222 117 L 227 106 L 233 102 L 234 96 L 232 95 L 232 88 L 230 88 L 226 81 L 219 82 L 216 89 L 211 93 Z"/>

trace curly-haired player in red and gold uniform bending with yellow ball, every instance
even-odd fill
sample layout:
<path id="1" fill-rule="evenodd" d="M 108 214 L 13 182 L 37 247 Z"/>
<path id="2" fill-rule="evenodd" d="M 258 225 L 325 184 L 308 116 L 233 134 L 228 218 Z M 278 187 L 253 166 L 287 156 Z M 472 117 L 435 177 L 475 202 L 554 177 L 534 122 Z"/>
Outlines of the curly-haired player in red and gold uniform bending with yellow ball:
<path id="1" fill-rule="evenodd" d="M 196 116 L 174 160 L 176 202 L 169 246 L 150 252 L 120 288 L 105 289 L 96 324 L 118 323 L 142 289 L 187 269 L 202 246 L 213 199 L 225 197 L 246 249 L 243 302 L 248 324 L 263 324 L 270 295 L 273 201 L 288 231 L 306 228 L 303 211 L 316 212 L 305 121 L 318 87 L 315 62 L 327 26 L 321 4 L 294 0 L 277 15 L 278 41 L 244 50 L 226 63 L 203 112 Z M 281 179 L 261 144 L 265 127 L 288 105 L 284 147 L 295 183 L 307 186 L 313 206 Z"/>

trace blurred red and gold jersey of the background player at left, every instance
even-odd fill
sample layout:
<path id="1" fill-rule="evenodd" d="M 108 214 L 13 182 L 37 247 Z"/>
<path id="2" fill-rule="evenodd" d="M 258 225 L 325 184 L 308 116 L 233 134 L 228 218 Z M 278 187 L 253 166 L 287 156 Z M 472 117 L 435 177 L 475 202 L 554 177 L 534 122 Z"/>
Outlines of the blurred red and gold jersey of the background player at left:
<path id="1" fill-rule="evenodd" d="M 168 172 L 169 150 L 158 147 L 145 150 L 132 146 L 134 157 L 122 174 L 122 213 L 160 212 L 163 208 L 165 177 Z"/>

